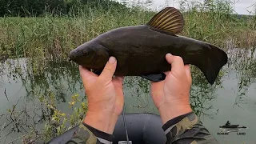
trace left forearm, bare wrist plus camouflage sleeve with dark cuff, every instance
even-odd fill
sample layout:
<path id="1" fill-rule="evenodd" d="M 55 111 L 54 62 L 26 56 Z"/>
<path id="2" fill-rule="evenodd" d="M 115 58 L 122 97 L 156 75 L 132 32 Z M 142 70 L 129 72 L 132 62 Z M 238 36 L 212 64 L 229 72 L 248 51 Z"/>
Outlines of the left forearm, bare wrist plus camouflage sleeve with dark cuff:
<path id="1" fill-rule="evenodd" d="M 78 143 L 104 143 L 113 142 L 114 126 L 118 121 L 118 115 L 111 113 L 94 113 L 88 111 L 86 118 L 80 124 L 76 134 L 67 144 Z"/>

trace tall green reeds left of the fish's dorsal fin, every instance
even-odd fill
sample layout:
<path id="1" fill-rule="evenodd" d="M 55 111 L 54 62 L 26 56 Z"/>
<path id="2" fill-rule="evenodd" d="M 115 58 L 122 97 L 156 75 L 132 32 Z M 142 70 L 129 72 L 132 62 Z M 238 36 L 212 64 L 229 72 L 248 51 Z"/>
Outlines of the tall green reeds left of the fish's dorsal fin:
<path id="1" fill-rule="evenodd" d="M 0 18 L 0 50 L 13 57 L 65 59 L 83 42 L 119 26 L 143 24 L 148 17 L 149 12 L 141 10 L 90 9 L 78 16 Z"/>

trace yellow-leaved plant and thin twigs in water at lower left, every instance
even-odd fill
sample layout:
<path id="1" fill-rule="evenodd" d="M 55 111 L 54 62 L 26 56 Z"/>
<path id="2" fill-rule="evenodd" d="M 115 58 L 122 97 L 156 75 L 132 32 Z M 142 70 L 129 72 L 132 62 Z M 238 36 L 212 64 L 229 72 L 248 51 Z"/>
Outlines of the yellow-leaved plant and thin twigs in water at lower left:
<path id="1" fill-rule="evenodd" d="M 20 98 L 19 100 L 21 100 Z M 22 102 L 16 102 L 12 108 L 8 109 L 6 114 L 1 114 L 0 118 L 6 118 L 6 123 L 2 125 L 3 130 L 10 132 L 0 136 L 0 142 L 6 143 L 6 137 L 9 134 L 18 134 L 9 143 L 40 143 L 48 142 L 51 138 L 62 134 L 66 130 L 77 126 L 84 118 L 87 111 L 86 100 L 79 94 L 74 94 L 70 102 L 66 103 L 69 110 L 62 112 L 57 109 L 57 102 L 52 91 L 47 94 L 38 95 L 34 99 L 34 109 L 30 108 L 30 103 L 22 105 Z M 41 129 L 38 126 L 42 125 Z"/>

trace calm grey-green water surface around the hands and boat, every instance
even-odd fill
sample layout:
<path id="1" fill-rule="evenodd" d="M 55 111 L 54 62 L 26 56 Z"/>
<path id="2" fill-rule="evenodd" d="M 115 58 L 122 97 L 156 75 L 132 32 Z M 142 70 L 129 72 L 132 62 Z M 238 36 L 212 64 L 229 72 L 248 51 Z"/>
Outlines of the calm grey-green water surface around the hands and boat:
<path id="1" fill-rule="evenodd" d="M 190 93 L 191 106 L 204 126 L 220 143 L 256 143 L 255 49 L 229 49 L 227 52 L 229 62 L 223 67 L 218 81 L 213 86 L 206 82 L 201 71 L 194 70 Z M 63 112 L 70 110 L 67 102 L 70 102 L 72 94 L 84 95 L 78 66 L 70 65 L 69 62 L 48 62 L 48 65 L 35 75 L 27 66 L 26 58 L 8 59 L 2 63 L 0 70 L 0 143 L 8 143 L 16 138 L 15 142 L 21 143 L 21 136 L 27 133 L 28 127 L 40 129 L 44 126 L 49 113 L 41 109 L 41 103 L 36 98 L 38 95 L 53 93 L 58 101 L 58 109 Z M 150 98 L 149 82 L 145 79 L 125 78 L 124 93 L 126 113 L 158 114 Z M 17 125 L 5 115 L 6 109 L 12 109 L 13 105 L 16 106 L 15 110 L 23 111 L 15 117 L 18 118 Z M 228 135 L 219 135 L 222 131 L 219 126 L 228 120 L 231 124 L 248 128 Z"/>

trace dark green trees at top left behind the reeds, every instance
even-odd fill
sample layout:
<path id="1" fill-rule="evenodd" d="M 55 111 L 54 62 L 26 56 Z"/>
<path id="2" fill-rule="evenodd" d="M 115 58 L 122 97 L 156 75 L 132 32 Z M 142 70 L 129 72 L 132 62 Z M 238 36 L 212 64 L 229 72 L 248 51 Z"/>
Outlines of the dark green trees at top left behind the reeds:
<path id="1" fill-rule="evenodd" d="M 126 6 L 110 0 L 0 0 L 0 17 L 34 17 L 46 13 L 77 14 L 78 10 L 88 12 L 88 7 L 109 10 L 111 6 L 126 9 Z"/>

